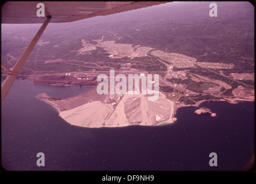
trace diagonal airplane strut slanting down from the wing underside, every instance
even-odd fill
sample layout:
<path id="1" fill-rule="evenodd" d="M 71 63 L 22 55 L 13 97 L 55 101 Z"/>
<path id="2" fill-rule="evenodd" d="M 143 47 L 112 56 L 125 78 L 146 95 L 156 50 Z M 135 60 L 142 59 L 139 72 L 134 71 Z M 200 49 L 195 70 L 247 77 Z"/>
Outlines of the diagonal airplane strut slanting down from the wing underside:
<path id="1" fill-rule="evenodd" d="M 43 25 L 41 26 L 41 28 L 33 37 L 32 41 L 30 41 L 28 47 L 26 47 L 25 51 L 22 53 L 20 59 L 18 59 L 17 63 L 13 67 L 13 70 L 8 74 L 7 78 L 3 82 L 1 86 L 1 102 L 5 98 L 5 95 L 8 93 L 10 87 L 12 86 L 22 66 L 25 64 L 26 59 L 28 59 L 28 56 L 30 55 L 33 48 L 35 47 L 37 41 L 40 39 L 41 35 L 44 32 L 44 29 L 46 28 L 50 20 L 51 20 L 51 16 L 48 16 L 47 19 L 44 21 Z"/>

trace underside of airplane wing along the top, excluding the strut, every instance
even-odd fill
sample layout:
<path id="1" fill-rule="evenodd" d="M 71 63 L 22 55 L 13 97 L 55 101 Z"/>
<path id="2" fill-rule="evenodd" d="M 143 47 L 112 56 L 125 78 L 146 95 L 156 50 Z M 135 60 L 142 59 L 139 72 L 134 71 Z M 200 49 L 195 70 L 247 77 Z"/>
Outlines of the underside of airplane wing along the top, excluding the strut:
<path id="1" fill-rule="evenodd" d="M 39 1 L 6 2 L 2 6 L 2 24 L 43 23 L 44 17 L 37 17 Z M 166 2 L 90 2 L 90 1 L 43 1 L 45 16 L 52 16 L 51 22 L 72 22 L 95 16 L 106 16 L 142 7 L 159 5 Z"/>

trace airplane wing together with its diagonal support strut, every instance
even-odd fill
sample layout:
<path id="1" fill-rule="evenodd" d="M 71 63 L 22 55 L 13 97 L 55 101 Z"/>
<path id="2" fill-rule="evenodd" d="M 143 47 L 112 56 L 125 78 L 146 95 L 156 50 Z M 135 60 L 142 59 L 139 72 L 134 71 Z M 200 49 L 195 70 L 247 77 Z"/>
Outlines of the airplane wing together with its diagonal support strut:
<path id="1" fill-rule="evenodd" d="M 37 3 L 43 3 L 45 6 L 45 17 L 37 17 Z M 1 102 L 8 93 L 14 80 L 16 79 L 21 68 L 24 66 L 30 52 L 35 47 L 37 41 L 43 34 L 48 23 L 72 22 L 95 16 L 106 16 L 123 11 L 135 10 L 142 7 L 159 5 L 166 2 L 70 2 L 70 1 L 8 1 L 2 6 L 2 24 L 36 24 L 43 23 L 39 31 L 33 37 L 32 41 L 22 53 L 20 59 L 9 70 L 1 64 L 2 68 L 7 71 L 8 75 L 1 86 Z"/>

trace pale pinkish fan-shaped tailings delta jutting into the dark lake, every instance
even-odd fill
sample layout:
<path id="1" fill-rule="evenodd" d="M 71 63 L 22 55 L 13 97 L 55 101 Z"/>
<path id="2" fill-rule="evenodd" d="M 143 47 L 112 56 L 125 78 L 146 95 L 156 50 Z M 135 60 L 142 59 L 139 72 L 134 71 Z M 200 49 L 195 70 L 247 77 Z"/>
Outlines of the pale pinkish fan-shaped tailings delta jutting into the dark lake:
<path id="1" fill-rule="evenodd" d="M 148 95 L 98 95 L 96 89 L 60 99 L 41 93 L 37 98 L 59 109 L 59 116 L 80 127 L 124 127 L 132 124 L 158 125 L 173 122 L 174 102 L 159 92 L 156 101 Z"/>

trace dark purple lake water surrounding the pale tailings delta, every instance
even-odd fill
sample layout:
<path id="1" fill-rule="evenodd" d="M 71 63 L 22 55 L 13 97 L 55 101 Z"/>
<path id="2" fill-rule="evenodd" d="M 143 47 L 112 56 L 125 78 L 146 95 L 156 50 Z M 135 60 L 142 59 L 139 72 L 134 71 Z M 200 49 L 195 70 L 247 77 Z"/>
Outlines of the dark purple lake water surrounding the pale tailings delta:
<path id="1" fill-rule="evenodd" d="M 17 171 L 233 171 L 254 153 L 254 102 L 204 102 L 177 111 L 174 124 L 83 128 L 68 124 L 40 93 L 67 98 L 90 87 L 34 85 L 16 80 L 2 102 L 2 166 Z M 45 166 L 36 164 L 45 154 Z M 209 154 L 217 154 L 217 167 Z"/>

